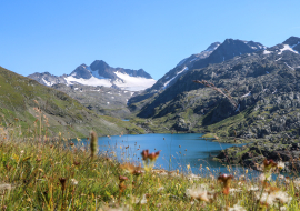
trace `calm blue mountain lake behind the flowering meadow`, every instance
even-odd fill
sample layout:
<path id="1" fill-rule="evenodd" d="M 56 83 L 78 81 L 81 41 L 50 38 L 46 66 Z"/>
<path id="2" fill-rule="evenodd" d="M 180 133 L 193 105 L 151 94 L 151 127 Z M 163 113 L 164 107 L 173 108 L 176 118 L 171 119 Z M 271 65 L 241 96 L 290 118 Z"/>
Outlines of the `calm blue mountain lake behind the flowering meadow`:
<path id="1" fill-rule="evenodd" d="M 214 174 L 219 172 L 232 173 L 228 171 L 227 164 L 213 161 L 221 150 L 230 148 L 232 143 L 218 143 L 201 139 L 200 133 L 184 134 L 126 134 L 114 137 L 101 137 L 98 139 L 100 153 L 116 154 L 117 159 L 123 161 L 141 162 L 142 150 L 150 152 L 161 151 L 156 162 L 156 168 L 166 170 L 177 170 L 187 172 L 187 165 L 190 164 L 193 173 Z M 84 141 L 84 140 L 83 140 Z M 200 167 L 202 169 L 200 170 Z M 210 171 L 207 170 L 207 167 Z M 244 168 L 231 168 L 242 174 Z"/>

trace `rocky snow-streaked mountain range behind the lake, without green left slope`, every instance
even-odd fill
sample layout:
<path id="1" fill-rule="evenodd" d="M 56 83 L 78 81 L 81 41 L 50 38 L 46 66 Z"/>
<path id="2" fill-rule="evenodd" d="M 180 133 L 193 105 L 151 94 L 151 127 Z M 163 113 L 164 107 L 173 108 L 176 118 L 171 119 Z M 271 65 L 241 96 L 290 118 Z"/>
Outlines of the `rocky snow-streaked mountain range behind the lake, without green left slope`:
<path id="1" fill-rule="evenodd" d="M 236 133 L 239 138 L 272 139 L 290 131 L 287 135 L 296 137 L 300 119 L 294 119 L 297 115 L 292 114 L 292 120 L 287 117 L 298 111 L 299 43 L 297 37 L 290 37 L 271 48 L 254 41 L 226 39 L 181 60 L 158 81 L 143 70 L 111 68 L 101 60 L 90 67 L 81 64 L 69 76 L 53 80 L 48 79 L 47 73 L 30 77 L 38 78 L 41 83 L 47 80 L 48 83 L 52 81 L 52 86 L 59 82 L 67 84 L 53 88 L 72 96 L 99 114 L 118 113 L 119 118 L 136 115 L 136 123 L 151 132 L 212 131 L 222 137 Z M 127 84 L 123 76 L 152 80 L 152 86 L 126 96 L 120 92 L 124 91 Z M 82 83 L 88 80 L 89 86 L 96 86 L 91 82 L 93 79 L 102 81 L 102 86 L 110 81 L 107 86 L 110 88 L 106 89 L 111 90 L 100 91 L 101 87 L 94 87 L 99 90 L 96 92 Z M 194 80 L 213 84 L 214 89 L 204 83 L 193 83 Z M 79 93 L 79 90 L 84 93 Z M 121 96 L 120 101 L 118 97 L 121 99 Z M 110 110 L 112 105 L 114 110 Z"/>

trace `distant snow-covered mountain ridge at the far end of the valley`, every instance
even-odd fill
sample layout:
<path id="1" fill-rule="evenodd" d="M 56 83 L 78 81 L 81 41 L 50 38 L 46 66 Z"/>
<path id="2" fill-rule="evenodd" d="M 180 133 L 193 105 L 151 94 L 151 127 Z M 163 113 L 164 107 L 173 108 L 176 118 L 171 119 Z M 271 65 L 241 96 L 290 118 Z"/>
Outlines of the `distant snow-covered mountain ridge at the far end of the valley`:
<path id="1" fill-rule="evenodd" d="M 144 90 L 156 82 L 143 69 L 112 68 L 102 60 L 96 60 L 90 66 L 83 63 L 70 74 L 52 76 L 49 72 L 36 72 L 28 77 L 48 87 L 64 83 L 67 86 L 103 86 L 130 91 Z"/>

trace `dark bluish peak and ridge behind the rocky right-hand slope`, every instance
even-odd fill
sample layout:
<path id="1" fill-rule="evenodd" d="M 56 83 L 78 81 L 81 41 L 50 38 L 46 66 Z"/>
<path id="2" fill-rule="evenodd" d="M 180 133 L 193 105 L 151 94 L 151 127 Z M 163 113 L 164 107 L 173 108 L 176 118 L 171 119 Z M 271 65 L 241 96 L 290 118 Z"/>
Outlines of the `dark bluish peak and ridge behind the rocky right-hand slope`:
<path id="1" fill-rule="evenodd" d="M 193 69 L 204 68 L 213 63 L 220 63 L 232 59 L 236 56 L 252 53 L 264 48 L 266 47 L 261 43 L 253 41 L 227 39 L 223 41 L 223 43 L 214 42 L 201 53 L 192 54 L 191 57 L 180 61 L 176 68 L 166 73 L 156 82 L 156 84 L 144 90 L 142 93 L 131 98 L 129 100 L 129 104 L 132 105 L 132 110 L 134 110 L 134 108 L 140 109 L 152 101 L 153 98 L 163 92 L 166 89 L 173 89 L 173 84 L 177 82 L 177 80 Z M 163 102 L 164 101 L 166 100 L 163 100 Z M 139 117 L 146 115 L 139 114 Z"/>

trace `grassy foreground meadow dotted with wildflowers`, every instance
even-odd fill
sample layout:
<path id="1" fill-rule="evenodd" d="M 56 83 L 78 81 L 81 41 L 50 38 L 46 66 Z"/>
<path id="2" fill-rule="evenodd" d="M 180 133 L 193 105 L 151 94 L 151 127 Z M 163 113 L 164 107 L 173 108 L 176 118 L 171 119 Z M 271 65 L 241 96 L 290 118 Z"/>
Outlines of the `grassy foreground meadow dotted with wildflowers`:
<path id="1" fill-rule="evenodd" d="M 91 159 L 89 144 L 79 139 L 73 144 L 61 135 L 17 133 L 0 129 L 2 210 L 300 210 L 299 180 L 260 181 L 230 167 L 232 175 L 218 179 L 207 167 L 200 172 L 209 177 L 192 174 L 189 164 L 184 174 L 153 170 L 159 152 L 143 151 L 143 165 L 120 163 L 113 152 Z M 280 174 L 266 162 L 261 175 Z"/>

